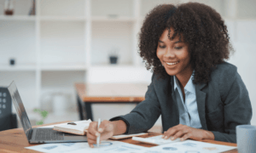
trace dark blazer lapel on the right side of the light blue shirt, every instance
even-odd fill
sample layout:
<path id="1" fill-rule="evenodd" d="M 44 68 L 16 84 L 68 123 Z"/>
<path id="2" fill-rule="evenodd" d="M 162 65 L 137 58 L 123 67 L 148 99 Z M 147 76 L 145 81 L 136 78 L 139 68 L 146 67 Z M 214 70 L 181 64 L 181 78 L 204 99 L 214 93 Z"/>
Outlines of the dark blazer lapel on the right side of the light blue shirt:
<path id="1" fill-rule="evenodd" d="M 195 84 L 195 94 L 196 94 L 196 102 L 198 114 L 201 121 L 201 127 L 207 130 L 207 120 L 206 120 L 206 97 L 207 94 L 202 92 L 201 89 L 204 88 L 207 84 Z"/>

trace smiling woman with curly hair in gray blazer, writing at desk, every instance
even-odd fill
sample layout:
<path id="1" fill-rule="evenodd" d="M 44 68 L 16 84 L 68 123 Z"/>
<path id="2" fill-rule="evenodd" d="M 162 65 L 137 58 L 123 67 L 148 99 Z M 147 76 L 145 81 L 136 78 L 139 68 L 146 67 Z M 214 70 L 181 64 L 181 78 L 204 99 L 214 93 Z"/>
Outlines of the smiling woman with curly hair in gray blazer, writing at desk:
<path id="1" fill-rule="evenodd" d="M 147 14 L 140 55 L 152 68 L 145 100 L 125 116 L 91 122 L 88 143 L 122 133 L 146 132 L 161 115 L 164 139 L 236 142 L 236 126 L 250 124 L 247 88 L 229 59 L 224 20 L 201 3 L 164 4 Z"/>

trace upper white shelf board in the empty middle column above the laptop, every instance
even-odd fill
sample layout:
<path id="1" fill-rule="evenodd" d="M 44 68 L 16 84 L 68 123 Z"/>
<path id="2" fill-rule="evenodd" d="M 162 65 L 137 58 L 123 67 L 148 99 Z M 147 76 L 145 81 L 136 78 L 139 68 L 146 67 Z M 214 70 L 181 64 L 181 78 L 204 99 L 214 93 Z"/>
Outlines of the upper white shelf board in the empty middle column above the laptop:
<path id="1" fill-rule="evenodd" d="M 84 21 L 86 18 L 84 16 L 41 16 L 40 20 L 63 20 L 63 21 Z"/>

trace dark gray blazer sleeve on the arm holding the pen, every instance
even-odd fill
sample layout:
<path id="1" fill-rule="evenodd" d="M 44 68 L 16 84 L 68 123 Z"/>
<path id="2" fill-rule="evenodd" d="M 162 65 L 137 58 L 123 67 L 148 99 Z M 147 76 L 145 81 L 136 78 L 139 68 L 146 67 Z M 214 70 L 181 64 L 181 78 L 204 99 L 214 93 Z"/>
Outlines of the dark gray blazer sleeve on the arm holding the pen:
<path id="1" fill-rule="evenodd" d="M 145 100 L 140 102 L 129 114 L 110 119 L 110 121 L 123 120 L 127 125 L 126 133 L 128 134 L 148 131 L 160 116 L 160 103 L 154 89 L 154 74 L 151 80 Z"/>

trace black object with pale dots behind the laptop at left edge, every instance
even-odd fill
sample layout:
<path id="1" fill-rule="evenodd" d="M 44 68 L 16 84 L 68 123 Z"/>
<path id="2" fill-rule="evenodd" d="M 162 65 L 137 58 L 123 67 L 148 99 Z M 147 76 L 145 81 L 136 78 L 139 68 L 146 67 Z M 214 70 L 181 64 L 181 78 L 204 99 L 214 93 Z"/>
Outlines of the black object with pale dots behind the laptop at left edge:
<path id="1" fill-rule="evenodd" d="M 17 127 L 17 117 L 12 113 L 9 91 L 7 88 L 0 88 L 0 131 Z"/>

